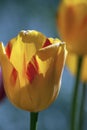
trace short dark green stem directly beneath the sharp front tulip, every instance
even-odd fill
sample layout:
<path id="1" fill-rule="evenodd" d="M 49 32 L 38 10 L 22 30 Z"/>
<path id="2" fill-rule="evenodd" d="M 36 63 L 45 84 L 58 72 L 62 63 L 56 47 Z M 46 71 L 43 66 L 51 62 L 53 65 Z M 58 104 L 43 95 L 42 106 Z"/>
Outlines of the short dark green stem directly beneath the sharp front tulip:
<path id="1" fill-rule="evenodd" d="M 30 130 L 37 129 L 37 121 L 38 121 L 38 112 L 31 112 L 30 113 Z"/>

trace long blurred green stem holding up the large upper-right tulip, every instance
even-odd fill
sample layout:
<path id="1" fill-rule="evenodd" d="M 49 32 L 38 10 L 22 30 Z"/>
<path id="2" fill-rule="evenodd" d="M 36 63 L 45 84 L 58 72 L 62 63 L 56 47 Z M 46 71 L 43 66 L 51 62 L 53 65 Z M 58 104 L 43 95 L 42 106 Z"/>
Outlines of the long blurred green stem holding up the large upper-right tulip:
<path id="1" fill-rule="evenodd" d="M 81 65 L 82 65 L 82 57 L 79 56 L 79 58 L 78 58 L 78 65 L 77 65 L 77 74 L 76 74 L 75 88 L 74 88 L 74 95 L 73 95 L 73 101 L 72 101 L 71 130 L 75 130 L 77 95 L 78 95 L 78 89 L 79 89 Z"/>

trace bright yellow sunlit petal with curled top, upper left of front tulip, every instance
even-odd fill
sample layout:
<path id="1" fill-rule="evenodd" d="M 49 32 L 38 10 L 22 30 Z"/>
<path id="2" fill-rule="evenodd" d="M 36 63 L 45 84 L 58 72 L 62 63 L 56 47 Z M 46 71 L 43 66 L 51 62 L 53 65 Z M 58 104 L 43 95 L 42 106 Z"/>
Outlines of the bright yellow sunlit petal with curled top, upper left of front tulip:
<path id="1" fill-rule="evenodd" d="M 21 31 L 16 38 L 9 41 L 9 44 L 14 44 L 11 50 L 10 62 L 19 73 L 21 87 L 25 86 L 28 82 L 25 72 L 27 63 L 31 60 L 36 51 L 42 47 L 45 40 L 46 37 L 42 33 L 28 30 Z"/>

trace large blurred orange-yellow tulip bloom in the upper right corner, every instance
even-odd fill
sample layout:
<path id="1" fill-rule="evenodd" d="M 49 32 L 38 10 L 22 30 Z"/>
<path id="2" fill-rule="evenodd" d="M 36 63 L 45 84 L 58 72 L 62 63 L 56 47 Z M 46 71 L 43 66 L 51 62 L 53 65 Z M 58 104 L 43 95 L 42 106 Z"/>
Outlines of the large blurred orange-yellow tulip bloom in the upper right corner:
<path id="1" fill-rule="evenodd" d="M 69 52 L 87 54 L 87 0 L 62 0 L 57 27 Z"/>

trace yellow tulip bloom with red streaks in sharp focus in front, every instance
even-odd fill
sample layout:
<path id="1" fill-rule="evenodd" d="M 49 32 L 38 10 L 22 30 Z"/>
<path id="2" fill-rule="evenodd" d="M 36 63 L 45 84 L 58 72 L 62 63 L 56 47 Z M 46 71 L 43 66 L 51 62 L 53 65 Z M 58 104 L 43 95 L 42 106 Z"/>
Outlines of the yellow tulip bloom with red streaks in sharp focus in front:
<path id="1" fill-rule="evenodd" d="M 42 33 L 21 31 L 6 47 L 0 44 L 0 64 L 9 100 L 37 112 L 57 97 L 66 57 L 65 44 Z"/>

